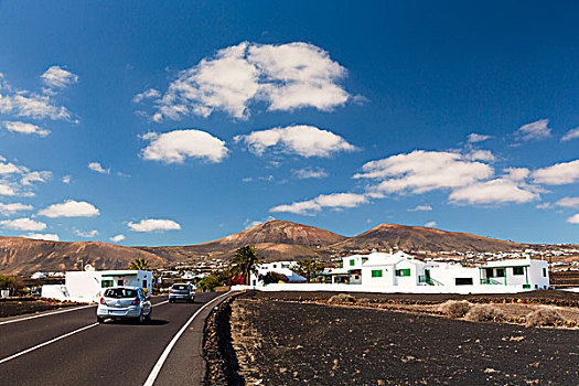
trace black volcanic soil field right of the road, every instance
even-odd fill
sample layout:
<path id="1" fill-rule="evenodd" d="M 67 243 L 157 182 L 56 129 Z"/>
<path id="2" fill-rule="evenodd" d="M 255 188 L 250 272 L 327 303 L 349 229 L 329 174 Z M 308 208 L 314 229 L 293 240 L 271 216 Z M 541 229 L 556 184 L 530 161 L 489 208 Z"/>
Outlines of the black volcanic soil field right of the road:
<path id="1" fill-rule="evenodd" d="M 558 300 L 577 300 L 576 293 L 548 292 Z M 535 297 L 527 299 L 549 298 L 529 294 Z M 249 292 L 230 303 L 234 362 L 239 361 L 242 377 L 229 377 L 227 384 L 579 385 L 576 329 L 300 303 L 294 301 L 299 297 L 326 299 L 328 294 Z M 448 298 L 395 297 L 427 302 Z M 208 384 L 224 383 L 222 378 Z"/>

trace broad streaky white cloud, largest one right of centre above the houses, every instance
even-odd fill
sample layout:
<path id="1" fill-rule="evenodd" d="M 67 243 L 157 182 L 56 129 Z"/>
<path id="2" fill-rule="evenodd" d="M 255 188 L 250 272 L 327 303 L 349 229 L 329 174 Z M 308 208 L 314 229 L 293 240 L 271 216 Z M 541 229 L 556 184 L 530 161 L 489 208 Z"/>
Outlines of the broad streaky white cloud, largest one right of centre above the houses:
<path id="1" fill-rule="evenodd" d="M 459 153 L 423 150 L 371 161 L 362 170 L 354 179 L 378 181 L 377 185 L 369 187 L 371 192 L 378 194 L 457 189 L 493 175 L 490 165 L 469 161 Z"/>

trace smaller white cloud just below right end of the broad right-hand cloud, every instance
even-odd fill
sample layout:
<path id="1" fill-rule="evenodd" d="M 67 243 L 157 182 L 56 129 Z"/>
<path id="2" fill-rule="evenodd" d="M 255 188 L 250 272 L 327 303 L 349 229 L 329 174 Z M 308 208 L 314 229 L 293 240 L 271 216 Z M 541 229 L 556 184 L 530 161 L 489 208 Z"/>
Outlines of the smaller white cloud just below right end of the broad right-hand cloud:
<path id="1" fill-rule="evenodd" d="M 479 182 L 454 190 L 449 200 L 453 203 L 492 204 L 492 203 L 527 203 L 538 200 L 538 193 L 532 186 L 517 184 L 507 179 L 495 179 Z"/>

